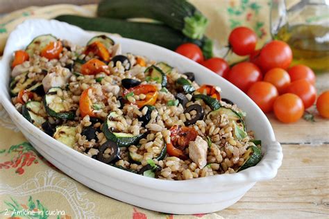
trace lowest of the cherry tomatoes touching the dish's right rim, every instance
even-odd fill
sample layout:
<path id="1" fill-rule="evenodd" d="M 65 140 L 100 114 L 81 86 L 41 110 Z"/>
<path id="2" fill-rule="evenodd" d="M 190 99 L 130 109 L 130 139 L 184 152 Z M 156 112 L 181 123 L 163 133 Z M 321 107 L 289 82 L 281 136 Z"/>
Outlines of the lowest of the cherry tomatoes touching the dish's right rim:
<path id="1" fill-rule="evenodd" d="M 269 82 L 258 81 L 251 85 L 247 94 L 262 112 L 271 112 L 274 100 L 278 97 L 278 90 Z"/>

